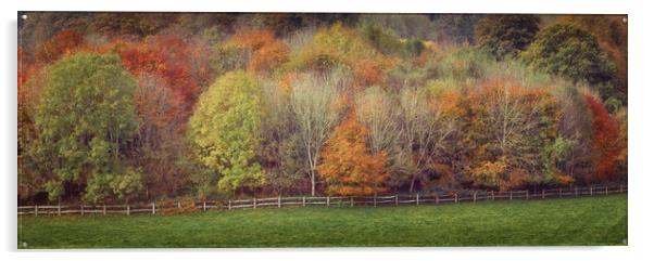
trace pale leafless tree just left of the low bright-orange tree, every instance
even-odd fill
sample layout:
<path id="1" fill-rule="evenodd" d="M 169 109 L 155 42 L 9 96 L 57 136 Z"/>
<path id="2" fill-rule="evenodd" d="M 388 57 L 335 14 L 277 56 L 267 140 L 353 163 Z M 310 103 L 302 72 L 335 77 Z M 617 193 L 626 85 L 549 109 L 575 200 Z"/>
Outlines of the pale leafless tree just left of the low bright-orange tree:
<path id="1" fill-rule="evenodd" d="M 342 70 L 327 75 L 301 75 L 291 83 L 291 110 L 298 125 L 298 142 L 305 152 L 302 156 L 312 196 L 316 193 L 320 152 L 339 119 L 339 90 L 343 90 L 345 84 L 348 78 Z"/>

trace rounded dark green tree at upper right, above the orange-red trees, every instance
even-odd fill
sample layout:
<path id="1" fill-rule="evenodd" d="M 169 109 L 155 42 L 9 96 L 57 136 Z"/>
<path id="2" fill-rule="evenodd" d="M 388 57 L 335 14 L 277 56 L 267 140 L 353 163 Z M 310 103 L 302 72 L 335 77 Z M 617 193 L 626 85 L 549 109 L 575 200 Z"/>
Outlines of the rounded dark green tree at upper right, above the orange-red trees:
<path id="1" fill-rule="evenodd" d="M 523 58 L 533 68 L 590 83 L 603 100 L 619 95 L 615 64 L 593 35 L 575 25 L 555 24 L 543 29 Z"/>

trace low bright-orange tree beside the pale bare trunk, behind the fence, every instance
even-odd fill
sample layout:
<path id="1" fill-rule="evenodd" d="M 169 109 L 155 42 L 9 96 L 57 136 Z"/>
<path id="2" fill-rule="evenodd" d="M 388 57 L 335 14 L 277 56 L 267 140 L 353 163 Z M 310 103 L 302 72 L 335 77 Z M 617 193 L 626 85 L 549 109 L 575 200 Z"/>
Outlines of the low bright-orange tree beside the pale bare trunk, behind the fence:
<path id="1" fill-rule="evenodd" d="M 386 152 L 370 154 L 366 147 L 367 129 L 356 118 L 354 109 L 336 127 L 323 149 L 318 171 L 335 195 L 373 195 L 385 192 L 388 177 Z"/>

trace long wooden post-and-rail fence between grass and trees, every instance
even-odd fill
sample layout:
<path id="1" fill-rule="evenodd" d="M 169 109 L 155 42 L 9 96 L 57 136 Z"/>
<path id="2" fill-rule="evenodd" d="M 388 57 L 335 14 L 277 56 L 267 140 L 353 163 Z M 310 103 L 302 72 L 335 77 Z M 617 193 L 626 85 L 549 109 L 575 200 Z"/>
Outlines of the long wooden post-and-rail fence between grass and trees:
<path id="1" fill-rule="evenodd" d="M 433 194 L 414 194 L 414 195 L 383 195 L 373 197 L 268 197 L 268 198 L 249 198 L 234 200 L 205 200 L 194 203 L 196 208 L 201 211 L 236 210 L 236 209 L 256 209 L 256 208 L 282 208 L 282 207 L 354 207 L 354 206 L 400 206 L 400 205 L 439 205 L 439 204 L 458 204 L 476 203 L 483 200 L 533 200 L 545 198 L 580 197 L 580 196 L 602 196 L 609 194 L 627 193 L 626 185 L 615 186 L 588 186 L 588 187 L 567 187 L 550 188 L 541 191 L 471 191 L 471 192 L 447 192 Z M 135 204 L 135 205 L 78 205 L 78 206 L 20 206 L 18 214 L 156 214 L 163 205 Z M 176 208 L 181 208 L 176 204 Z"/>

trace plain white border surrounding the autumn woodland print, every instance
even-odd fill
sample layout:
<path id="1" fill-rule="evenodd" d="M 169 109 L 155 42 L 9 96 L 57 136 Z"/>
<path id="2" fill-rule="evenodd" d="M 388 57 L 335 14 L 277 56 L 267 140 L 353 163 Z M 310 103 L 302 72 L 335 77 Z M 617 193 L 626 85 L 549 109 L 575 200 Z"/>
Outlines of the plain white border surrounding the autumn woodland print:
<path id="1" fill-rule="evenodd" d="M 2 166 L 3 204 L 0 246 L 3 260 L 621 260 L 651 259 L 652 203 L 651 110 L 654 84 L 649 80 L 654 10 L 636 0 L 22 0 L 3 1 Z M 486 248 L 277 248 L 277 249 L 123 249 L 16 250 L 16 12 L 17 11 L 175 11 L 175 12 L 369 12 L 369 13 L 611 13 L 629 15 L 629 246 L 628 247 L 486 247 Z M 649 106 L 647 106 L 649 105 Z"/>

